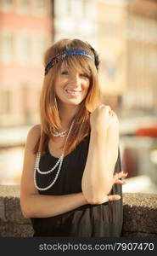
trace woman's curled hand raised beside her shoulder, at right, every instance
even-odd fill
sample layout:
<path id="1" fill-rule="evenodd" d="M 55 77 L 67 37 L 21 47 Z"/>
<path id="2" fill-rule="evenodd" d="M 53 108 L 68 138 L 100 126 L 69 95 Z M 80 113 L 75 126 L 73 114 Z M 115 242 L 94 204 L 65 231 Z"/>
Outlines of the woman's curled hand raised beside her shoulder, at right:
<path id="1" fill-rule="evenodd" d="M 109 106 L 101 104 L 90 115 L 90 124 L 93 131 L 100 134 L 109 129 L 115 120 L 115 114 Z"/>

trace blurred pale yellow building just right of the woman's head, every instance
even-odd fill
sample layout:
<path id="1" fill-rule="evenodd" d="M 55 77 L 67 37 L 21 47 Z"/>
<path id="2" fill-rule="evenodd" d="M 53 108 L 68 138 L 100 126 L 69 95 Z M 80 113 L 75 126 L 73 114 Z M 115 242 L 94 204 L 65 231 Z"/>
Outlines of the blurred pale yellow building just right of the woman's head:
<path id="1" fill-rule="evenodd" d="M 126 90 L 127 1 L 98 1 L 100 86 L 104 102 L 116 108 Z"/>

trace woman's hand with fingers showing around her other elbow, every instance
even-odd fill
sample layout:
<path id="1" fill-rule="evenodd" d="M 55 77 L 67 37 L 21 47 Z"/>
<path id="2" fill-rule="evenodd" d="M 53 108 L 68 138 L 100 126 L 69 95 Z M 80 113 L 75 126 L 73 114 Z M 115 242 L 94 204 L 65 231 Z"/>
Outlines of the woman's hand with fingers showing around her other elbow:
<path id="1" fill-rule="evenodd" d="M 123 180 L 121 180 L 120 178 L 122 177 L 126 177 L 128 173 L 124 173 L 123 171 L 121 172 L 116 172 L 113 176 L 113 184 L 126 184 L 126 182 L 124 182 Z M 107 201 L 118 201 L 121 199 L 121 195 L 105 195 L 104 199 L 99 203 L 99 204 L 104 204 Z M 98 204 L 98 205 L 99 205 Z"/>

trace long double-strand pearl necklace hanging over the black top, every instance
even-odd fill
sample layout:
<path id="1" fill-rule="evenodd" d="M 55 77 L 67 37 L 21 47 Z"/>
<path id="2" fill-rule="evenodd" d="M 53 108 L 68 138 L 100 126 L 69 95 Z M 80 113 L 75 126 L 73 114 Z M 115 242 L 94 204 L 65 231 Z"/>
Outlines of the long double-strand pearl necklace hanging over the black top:
<path id="1" fill-rule="evenodd" d="M 74 125 L 74 120 L 72 121 L 71 125 L 70 125 L 70 130 L 68 131 L 68 135 L 65 139 L 65 142 L 64 142 L 64 148 L 65 148 L 65 145 L 66 145 L 66 142 L 67 142 L 67 139 L 70 135 L 70 131 L 72 130 L 72 127 Z M 61 170 L 61 167 L 62 167 L 62 163 L 63 163 L 63 160 L 64 160 L 64 149 L 63 149 L 63 153 L 60 155 L 59 157 L 59 160 L 56 162 L 56 164 L 47 172 L 42 172 L 40 169 L 39 169 L 39 164 L 40 164 L 40 159 L 41 159 L 41 153 L 38 152 L 37 155 L 36 155 L 36 163 L 35 163 L 35 168 L 34 168 L 34 184 L 35 184 L 35 187 L 36 189 L 38 190 L 47 190 L 47 189 L 50 189 L 51 187 L 53 187 L 53 184 L 56 182 L 57 178 L 59 177 L 59 172 Z M 36 172 L 42 174 L 42 175 L 46 175 L 48 173 L 51 173 L 53 172 L 57 166 L 59 166 L 59 169 L 58 169 L 58 172 L 56 173 L 56 176 L 54 177 L 53 179 L 53 182 L 50 183 L 47 187 L 45 188 L 40 188 L 37 183 L 36 183 Z"/>

